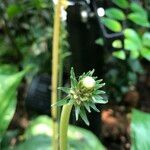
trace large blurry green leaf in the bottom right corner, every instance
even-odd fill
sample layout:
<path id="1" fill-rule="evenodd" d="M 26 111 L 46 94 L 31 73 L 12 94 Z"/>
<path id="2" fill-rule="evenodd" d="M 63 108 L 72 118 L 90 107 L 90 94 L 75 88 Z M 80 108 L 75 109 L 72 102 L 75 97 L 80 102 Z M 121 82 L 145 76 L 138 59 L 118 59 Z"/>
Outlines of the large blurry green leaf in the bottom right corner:
<path id="1" fill-rule="evenodd" d="M 131 115 L 131 150 L 150 149 L 150 114 L 133 110 Z"/>

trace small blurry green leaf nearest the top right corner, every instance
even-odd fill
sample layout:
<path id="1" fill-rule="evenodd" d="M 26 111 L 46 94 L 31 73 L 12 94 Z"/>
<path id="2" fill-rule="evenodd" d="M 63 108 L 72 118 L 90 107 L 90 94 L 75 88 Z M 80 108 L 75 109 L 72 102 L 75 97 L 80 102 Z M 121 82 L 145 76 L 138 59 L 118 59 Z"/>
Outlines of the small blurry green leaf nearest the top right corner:
<path id="1" fill-rule="evenodd" d="M 147 16 L 147 12 L 142 8 L 142 6 L 137 2 L 132 2 L 130 5 L 130 8 L 132 11 L 137 12 L 139 14 L 143 14 L 144 16 Z"/>

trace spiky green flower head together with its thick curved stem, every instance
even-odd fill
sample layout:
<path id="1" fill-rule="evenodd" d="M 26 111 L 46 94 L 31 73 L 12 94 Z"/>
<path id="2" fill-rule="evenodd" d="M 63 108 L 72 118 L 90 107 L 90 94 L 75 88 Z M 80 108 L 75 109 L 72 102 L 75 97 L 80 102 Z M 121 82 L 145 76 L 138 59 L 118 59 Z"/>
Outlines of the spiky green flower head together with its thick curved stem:
<path id="1" fill-rule="evenodd" d="M 91 108 L 99 112 L 96 104 L 105 104 L 108 101 L 102 96 L 105 94 L 104 91 L 100 90 L 101 87 L 105 85 L 102 80 L 97 80 L 97 77 L 93 77 L 94 70 L 84 73 L 77 80 L 73 68 L 70 72 L 71 87 L 60 87 L 67 94 L 67 96 L 59 100 L 56 106 L 63 106 L 60 119 L 60 131 L 59 131 L 59 146 L 60 150 L 67 150 L 67 131 L 69 125 L 69 118 L 71 114 L 72 107 L 75 108 L 76 120 L 79 116 L 81 119 L 89 125 L 89 121 L 86 115 L 86 110 L 91 112 Z"/>

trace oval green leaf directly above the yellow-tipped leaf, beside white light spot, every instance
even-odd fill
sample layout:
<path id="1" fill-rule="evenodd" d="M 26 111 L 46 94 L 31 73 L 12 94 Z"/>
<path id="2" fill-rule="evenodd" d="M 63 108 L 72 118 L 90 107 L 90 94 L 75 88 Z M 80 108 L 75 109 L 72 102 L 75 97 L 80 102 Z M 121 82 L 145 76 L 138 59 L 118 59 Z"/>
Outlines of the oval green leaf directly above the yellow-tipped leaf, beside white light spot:
<path id="1" fill-rule="evenodd" d="M 106 9 L 106 16 L 116 20 L 125 20 L 125 14 L 121 9 L 118 8 L 108 8 Z"/>

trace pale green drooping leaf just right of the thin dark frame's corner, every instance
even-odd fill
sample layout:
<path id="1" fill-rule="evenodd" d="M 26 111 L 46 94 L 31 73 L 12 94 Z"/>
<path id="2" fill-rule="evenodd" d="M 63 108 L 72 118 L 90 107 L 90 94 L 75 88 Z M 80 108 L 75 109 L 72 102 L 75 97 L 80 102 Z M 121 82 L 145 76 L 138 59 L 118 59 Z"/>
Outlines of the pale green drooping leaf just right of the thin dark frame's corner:
<path id="1" fill-rule="evenodd" d="M 139 49 L 142 48 L 142 41 L 135 30 L 133 30 L 131 28 L 125 29 L 124 36 L 126 39 L 136 43 L 136 45 L 139 47 Z"/>

